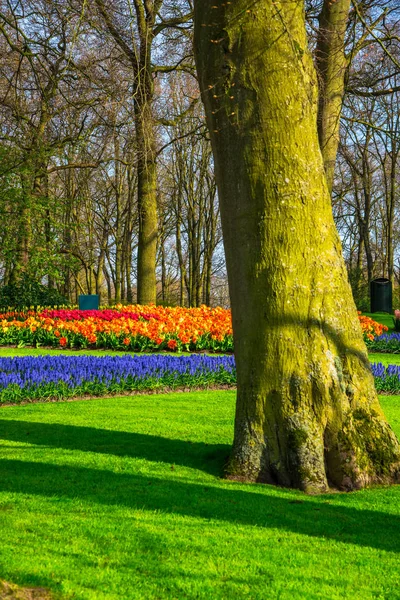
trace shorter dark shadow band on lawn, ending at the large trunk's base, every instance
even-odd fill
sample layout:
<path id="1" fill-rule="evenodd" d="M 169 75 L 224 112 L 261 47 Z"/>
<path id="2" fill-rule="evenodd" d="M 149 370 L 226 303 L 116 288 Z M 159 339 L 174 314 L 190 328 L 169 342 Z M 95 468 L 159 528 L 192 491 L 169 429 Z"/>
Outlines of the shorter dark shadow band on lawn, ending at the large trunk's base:
<path id="1" fill-rule="evenodd" d="M 230 452 L 230 446 L 225 444 L 206 444 L 136 432 L 6 419 L 0 419 L 0 440 L 144 458 L 200 469 L 215 476 L 222 474 Z"/>

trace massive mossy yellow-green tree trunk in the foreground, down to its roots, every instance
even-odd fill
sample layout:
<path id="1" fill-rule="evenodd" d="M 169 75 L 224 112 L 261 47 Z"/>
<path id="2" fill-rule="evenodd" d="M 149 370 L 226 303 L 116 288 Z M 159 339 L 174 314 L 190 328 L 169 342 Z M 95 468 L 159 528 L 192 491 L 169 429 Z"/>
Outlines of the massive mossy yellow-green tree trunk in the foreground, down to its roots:
<path id="1" fill-rule="evenodd" d="M 379 406 L 334 226 L 302 3 L 195 2 L 232 304 L 231 477 L 307 492 L 391 482 Z"/>

